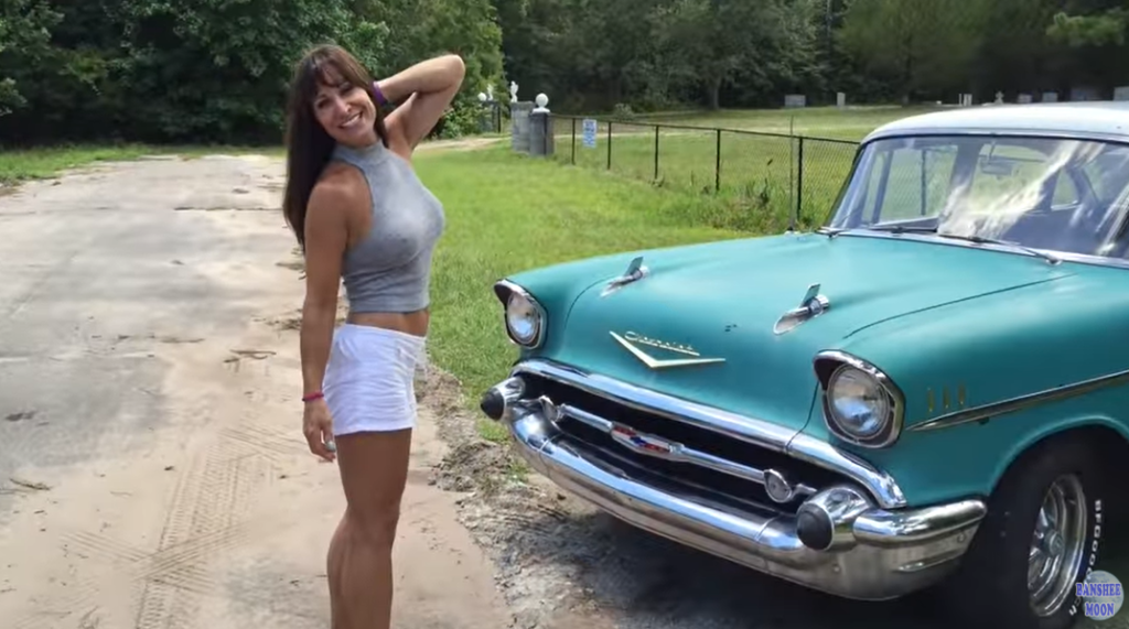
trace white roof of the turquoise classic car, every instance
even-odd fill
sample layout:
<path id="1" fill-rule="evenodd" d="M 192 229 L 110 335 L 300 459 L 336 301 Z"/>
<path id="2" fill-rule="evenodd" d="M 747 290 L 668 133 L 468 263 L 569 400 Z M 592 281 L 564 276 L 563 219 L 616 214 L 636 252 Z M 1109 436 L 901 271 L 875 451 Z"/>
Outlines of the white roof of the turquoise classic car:
<path id="1" fill-rule="evenodd" d="M 1052 135 L 1129 142 L 1129 101 L 1091 100 L 981 105 L 909 116 L 879 126 L 863 141 L 921 134 Z"/>

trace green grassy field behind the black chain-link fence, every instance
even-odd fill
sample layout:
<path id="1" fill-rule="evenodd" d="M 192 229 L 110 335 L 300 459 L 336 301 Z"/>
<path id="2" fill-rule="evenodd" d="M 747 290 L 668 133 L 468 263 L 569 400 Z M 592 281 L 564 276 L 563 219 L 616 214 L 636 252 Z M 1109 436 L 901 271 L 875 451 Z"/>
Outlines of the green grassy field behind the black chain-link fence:
<path id="1" fill-rule="evenodd" d="M 795 211 L 802 225 L 812 227 L 826 218 L 850 171 L 858 140 L 882 124 L 929 110 L 813 107 L 654 114 L 630 122 L 599 122 L 595 148 L 584 145 L 579 121 L 574 130 L 571 118 L 557 117 L 553 153 L 563 163 L 665 188 L 716 194 L 758 214 L 787 216 Z M 656 138 L 656 124 L 681 127 L 658 126 Z M 806 138 L 789 136 L 789 130 Z M 750 229 L 741 223 L 710 224 Z"/>

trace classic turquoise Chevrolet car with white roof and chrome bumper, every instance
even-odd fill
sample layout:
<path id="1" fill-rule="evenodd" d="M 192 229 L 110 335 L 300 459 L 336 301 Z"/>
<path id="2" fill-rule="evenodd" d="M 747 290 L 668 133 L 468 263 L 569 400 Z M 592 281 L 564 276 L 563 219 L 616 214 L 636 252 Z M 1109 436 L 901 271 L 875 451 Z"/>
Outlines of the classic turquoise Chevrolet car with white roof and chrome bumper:
<path id="1" fill-rule="evenodd" d="M 499 281 L 483 395 L 653 533 L 860 600 L 1054 629 L 1129 503 L 1129 105 L 887 124 L 814 232 Z"/>

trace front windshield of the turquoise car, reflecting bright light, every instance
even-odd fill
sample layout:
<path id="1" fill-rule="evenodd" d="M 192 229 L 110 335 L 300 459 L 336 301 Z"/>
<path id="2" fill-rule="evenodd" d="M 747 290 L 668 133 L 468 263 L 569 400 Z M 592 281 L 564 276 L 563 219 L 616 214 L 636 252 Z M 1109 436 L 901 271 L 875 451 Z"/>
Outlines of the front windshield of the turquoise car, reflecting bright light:
<path id="1" fill-rule="evenodd" d="M 828 228 L 936 232 L 1126 257 L 1129 147 L 949 135 L 877 140 L 859 154 Z"/>

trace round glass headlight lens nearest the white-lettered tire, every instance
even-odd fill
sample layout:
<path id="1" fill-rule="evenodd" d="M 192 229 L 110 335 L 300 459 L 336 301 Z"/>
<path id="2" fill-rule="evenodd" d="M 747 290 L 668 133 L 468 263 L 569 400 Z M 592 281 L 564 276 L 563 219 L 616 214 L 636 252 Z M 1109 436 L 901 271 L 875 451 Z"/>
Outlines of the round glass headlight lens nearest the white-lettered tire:
<path id="1" fill-rule="evenodd" d="M 831 418 L 848 436 L 866 441 L 877 436 L 891 420 L 890 396 L 869 373 L 842 366 L 828 382 Z"/>

